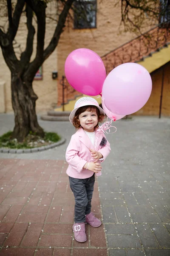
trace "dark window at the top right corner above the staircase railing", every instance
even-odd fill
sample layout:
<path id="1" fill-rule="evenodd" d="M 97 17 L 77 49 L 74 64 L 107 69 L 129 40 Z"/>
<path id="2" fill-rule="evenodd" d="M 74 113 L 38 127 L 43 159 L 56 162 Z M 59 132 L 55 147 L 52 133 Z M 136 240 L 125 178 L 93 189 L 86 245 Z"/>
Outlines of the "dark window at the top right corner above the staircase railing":
<path id="1" fill-rule="evenodd" d="M 160 0 L 160 23 L 170 23 L 170 0 Z"/>

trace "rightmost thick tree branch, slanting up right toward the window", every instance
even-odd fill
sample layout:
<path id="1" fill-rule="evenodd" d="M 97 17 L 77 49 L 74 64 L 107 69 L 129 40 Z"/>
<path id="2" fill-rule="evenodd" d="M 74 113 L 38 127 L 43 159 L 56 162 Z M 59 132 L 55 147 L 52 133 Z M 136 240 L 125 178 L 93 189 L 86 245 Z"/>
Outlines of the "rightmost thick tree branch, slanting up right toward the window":
<path id="1" fill-rule="evenodd" d="M 44 50 L 43 61 L 45 61 L 49 57 L 49 55 L 54 51 L 54 49 L 57 47 L 60 35 L 63 32 L 63 28 L 65 26 L 66 17 L 74 1 L 75 0 L 67 0 L 65 2 L 65 6 L 62 9 L 61 14 L 59 15 L 59 21 L 54 31 L 54 35 L 51 39 L 51 42 L 49 43 L 48 47 Z"/>

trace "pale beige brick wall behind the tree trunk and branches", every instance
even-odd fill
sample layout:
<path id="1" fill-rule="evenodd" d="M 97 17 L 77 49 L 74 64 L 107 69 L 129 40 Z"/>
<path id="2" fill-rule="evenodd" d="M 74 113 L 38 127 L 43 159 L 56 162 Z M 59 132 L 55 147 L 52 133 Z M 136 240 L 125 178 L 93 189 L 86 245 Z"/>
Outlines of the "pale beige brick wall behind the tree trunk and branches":
<path id="1" fill-rule="evenodd" d="M 48 9 L 50 9 L 51 6 L 48 6 Z M 48 12 L 47 9 L 47 12 Z M 52 9 L 53 10 L 53 9 Z M 55 10 L 53 10 L 55 12 Z M 53 15 L 51 13 L 50 9 L 50 15 Z M 1 20 L 0 23 L 3 23 Z M 33 19 L 33 24 L 35 29 L 37 30 L 37 24 Z M 46 32 L 45 32 L 45 47 L 49 44 L 51 41 L 51 37 L 54 33 L 56 23 L 51 20 L 47 20 L 46 23 Z M 27 37 L 27 27 L 26 27 L 26 17 L 23 16 L 20 19 L 20 26 L 17 32 L 17 35 L 15 37 L 17 44 L 15 45 L 15 52 L 17 55 L 17 58 L 20 57 L 20 49 L 19 45 L 24 51 L 26 47 L 26 37 Z M 34 35 L 34 52 L 31 57 L 31 60 L 33 60 L 35 54 L 36 54 L 36 45 L 37 45 L 37 34 Z M 52 79 L 52 72 L 54 70 L 57 70 L 57 49 L 54 50 L 54 52 L 49 56 L 49 58 L 42 64 L 42 80 L 34 80 L 33 81 L 33 89 L 34 92 L 37 94 L 38 99 L 36 101 L 36 110 L 37 113 L 40 112 L 46 112 L 49 109 L 52 109 L 57 104 L 57 80 Z M 8 69 L 3 55 L 2 50 L 0 49 L 0 82 L 5 83 L 5 110 L 6 112 L 12 112 L 12 104 L 11 104 L 11 73 Z M 0 95 L 0 101 L 1 101 L 1 95 Z M 4 109 L 4 108 L 3 108 Z M 0 111 L 3 112 L 3 111 Z"/>

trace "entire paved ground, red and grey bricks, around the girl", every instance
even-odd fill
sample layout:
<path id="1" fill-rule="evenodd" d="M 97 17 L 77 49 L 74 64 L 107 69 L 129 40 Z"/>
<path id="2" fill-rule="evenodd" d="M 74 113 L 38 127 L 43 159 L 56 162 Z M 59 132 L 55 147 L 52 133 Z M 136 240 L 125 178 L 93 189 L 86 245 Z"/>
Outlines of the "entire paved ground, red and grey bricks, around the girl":
<path id="1" fill-rule="evenodd" d="M 12 128 L 0 115 L 0 134 Z M 31 154 L 0 153 L 2 256 L 170 256 L 170 119 L 139 117 L 115 122 L 112 152 L 96 179 L 88 241 L 72 232 L 74 197 L 65 174 L 65 149 L 74 128 L 45 122 L 64 145 Z"/>

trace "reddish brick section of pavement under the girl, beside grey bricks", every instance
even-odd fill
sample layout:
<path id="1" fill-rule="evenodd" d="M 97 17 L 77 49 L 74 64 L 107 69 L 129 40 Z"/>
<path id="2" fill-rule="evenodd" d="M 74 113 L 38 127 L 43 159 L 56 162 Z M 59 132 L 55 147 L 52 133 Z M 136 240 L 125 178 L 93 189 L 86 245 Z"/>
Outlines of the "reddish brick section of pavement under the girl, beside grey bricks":
<path id="1" fill-rule="evenodd" d="M 74 240 L 66 168 L 63 160 L 0 160 L 0 255 L 107 256 L 103 224 L 86 224 L 88 240 Z M 92 204 L 101 219 L 97 181 Z"/>

